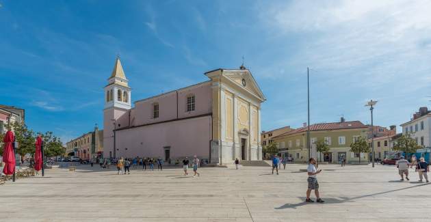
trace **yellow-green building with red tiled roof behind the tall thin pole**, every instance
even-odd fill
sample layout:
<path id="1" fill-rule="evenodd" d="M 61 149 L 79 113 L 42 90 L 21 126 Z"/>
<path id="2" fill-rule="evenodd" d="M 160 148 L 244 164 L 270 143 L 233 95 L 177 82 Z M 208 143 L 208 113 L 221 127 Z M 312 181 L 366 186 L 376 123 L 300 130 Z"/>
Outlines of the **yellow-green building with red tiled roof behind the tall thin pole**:
<path id="1" fill-rule="evenodd" d="M 297 163 L 308 161 L 309 151 L 306 145 L 307 126 L 291 130 L 288 133 L 274 137 L 274 142 L 278 143 L 278 148 L 287 148 L 289 156 L 293 157 Z M 361 163 L 367 163 L 366 154 L 355 154 L 350 152 L 350 144 L 359 137 L 367 137 L 368 127 L 360 121 L 313 124 L 310 126 L 311 157 L 318 161 L 328 163 L 338 163 L 341 157 L 345 157 L 348 163 L 358 163 L 361 156 Z M 320 154 L 317 152 L 315 142 L 325 141 L 329 146 L 329 152 Z"/>

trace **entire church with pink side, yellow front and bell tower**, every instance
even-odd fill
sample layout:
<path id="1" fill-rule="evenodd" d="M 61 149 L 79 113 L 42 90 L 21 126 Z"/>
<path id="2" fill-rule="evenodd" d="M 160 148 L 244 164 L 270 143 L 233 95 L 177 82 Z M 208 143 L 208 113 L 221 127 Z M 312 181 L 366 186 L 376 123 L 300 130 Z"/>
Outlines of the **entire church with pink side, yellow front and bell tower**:
<path id="1" fill-rule="evenodd" d="M 265 96 L 251 72 L 217 69 L 208 81 L 137 100 L 116 59 L 105 89 L 103 156 L 144 156 L 231 164 L 262 159 L 261 102 Z"/>

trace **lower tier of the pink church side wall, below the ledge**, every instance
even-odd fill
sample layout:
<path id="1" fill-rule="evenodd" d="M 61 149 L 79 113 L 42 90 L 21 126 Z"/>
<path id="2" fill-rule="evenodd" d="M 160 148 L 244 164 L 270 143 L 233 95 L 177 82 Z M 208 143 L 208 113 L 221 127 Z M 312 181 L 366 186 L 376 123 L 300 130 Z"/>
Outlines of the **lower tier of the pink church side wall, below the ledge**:
<path id="1" fill-rule="evenodd" d="M 116 156 L 164 158 L 164 147 L 170 146 L 172 161 L 193 155 L 209 158 L 210 140 L 211 115 L 141 126 L 117 131 Z"/>

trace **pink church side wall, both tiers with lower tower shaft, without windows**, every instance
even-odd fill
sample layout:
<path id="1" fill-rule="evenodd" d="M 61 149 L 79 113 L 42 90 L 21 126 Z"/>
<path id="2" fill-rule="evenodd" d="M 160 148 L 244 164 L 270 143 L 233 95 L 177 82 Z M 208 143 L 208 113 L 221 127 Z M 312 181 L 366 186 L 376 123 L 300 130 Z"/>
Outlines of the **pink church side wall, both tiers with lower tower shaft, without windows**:
<path id="1" fill-rule="evenodd" d="M 187 112 L 187 96 L 190 94 L 195 96 L 195 110 Z M 158 118 L 153 118 L 153 104 L 155 102 L 159 103 Z M 209 113 L 211 113 L 211 83 L 209 81 L 135 102 L 135 107 L 130 111 L 118 108 L 105 109 L 103 155 L 109 157 L 109 152 L 112 152 L 112 156 L 114 156 L 112 119 L 116 119 L 117 129 L 126 128 L 129 123 L 132 127 L 116 131 L 116 148 L 118 149 L 116 150 L 116 157 L 164 156 L 164 147 L 170 146 L 172 157 L 196 154 L 208 158 L 209 141 L 212 137 L 211 115 L 196 119 L 157 123 Z M 146 124 L 152 125 L 142 126 Z"/>

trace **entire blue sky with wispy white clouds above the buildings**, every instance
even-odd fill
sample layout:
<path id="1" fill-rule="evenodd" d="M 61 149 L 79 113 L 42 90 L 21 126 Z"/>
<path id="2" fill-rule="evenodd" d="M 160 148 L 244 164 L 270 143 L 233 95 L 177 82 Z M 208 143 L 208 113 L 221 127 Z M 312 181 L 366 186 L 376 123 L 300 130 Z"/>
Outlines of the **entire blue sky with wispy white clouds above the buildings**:
<path id="1" fill-rule="evenodd" d="M 119 53 L 132 100 L 205 81 L 241 57 L 267 101 L 262 130 L 306 122 L 400 125 L 431 98 L 430 1 L 0 0 L 0 104 L 63 141 L 103 121 Z M 398 128 L 400 130 L 400 128 Z"/>

